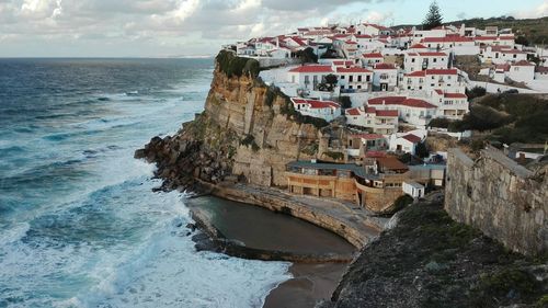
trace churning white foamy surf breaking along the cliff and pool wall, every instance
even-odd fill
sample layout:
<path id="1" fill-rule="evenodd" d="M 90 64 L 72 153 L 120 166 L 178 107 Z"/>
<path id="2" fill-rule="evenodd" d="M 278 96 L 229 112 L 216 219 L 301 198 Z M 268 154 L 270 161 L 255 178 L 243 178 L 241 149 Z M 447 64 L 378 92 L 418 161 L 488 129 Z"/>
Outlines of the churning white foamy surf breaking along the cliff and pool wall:
<path id="1" fill-rule="evenodd" d="M 208 82 L 179 90 L 196 101 L 99 94 L 109 99 L 99 103 L 110 110 L 102 119 L 21 140 L 31 149 L 28 162 L 10 175 L 78 162 L 62 167 L 70 176 L 58 186 L 21 195 L 36 204 L 1 230 L 0 307 L 4 299 L 13 307 L 261 307 L 270 289 L 289 278 L 288 263 L 196 252 L 184 227 L 191 220 L 184 195 L 152 193 L 160 185 L 149 180 L 155 167 L 133 159 L 150 137 L 176 132 L 202 110 Z M 43 138 L 64 133 L 66 139 Z"/>

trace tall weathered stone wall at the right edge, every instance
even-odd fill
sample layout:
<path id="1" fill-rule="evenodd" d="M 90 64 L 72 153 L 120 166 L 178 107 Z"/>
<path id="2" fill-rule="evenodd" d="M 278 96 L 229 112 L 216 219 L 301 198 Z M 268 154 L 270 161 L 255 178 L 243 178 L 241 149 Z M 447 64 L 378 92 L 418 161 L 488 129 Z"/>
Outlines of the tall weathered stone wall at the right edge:
<path id="1" fill-rule="evenodd" d="M 450 149 L 445 209 L 505 247 L 524 254 L 548 252 L 548 172 L 533 172 L 494 148 L 472 161 Z"/>

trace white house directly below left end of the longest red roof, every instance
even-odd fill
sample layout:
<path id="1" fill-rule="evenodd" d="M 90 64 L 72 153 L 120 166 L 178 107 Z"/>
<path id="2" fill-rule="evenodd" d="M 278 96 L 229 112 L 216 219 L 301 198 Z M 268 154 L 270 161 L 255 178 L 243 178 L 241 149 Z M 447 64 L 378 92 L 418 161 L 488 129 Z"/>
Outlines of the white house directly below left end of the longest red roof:
<path id="1" fill-rule="evenodd" d="M 397 110 L 354 107 L 345 111 L 346 124 L 369 128 L 374 133 L 390 135 L 398 132 Z"/>

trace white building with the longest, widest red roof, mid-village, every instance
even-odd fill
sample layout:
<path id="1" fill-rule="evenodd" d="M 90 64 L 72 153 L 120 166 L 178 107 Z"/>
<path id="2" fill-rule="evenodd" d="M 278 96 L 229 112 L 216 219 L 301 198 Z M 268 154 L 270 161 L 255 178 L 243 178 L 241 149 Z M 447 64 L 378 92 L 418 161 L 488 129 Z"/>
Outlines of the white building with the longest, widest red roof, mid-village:
<path id="1" fill-rule="evenodd" d="M 397 110 L 399 118 L 418 127 L 426 126 L 436 115 L 437 106 L 424 100 L 407 96 L 383 96 L 369 99 L 367 106 L 376 110 Z"/>

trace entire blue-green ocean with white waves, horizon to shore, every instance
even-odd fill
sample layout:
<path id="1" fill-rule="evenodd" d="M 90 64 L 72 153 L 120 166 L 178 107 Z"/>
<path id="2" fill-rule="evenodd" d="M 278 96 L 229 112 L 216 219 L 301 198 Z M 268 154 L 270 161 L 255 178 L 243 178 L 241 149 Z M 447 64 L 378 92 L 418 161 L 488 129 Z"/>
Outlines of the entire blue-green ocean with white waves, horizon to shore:
<path id="1" fill-rule="evenodd" d="M 289 264 L 196 252 L 133 158 L 201 112 L 212 59 L 0 59 L 0 307 L 261 307 Z"/>

